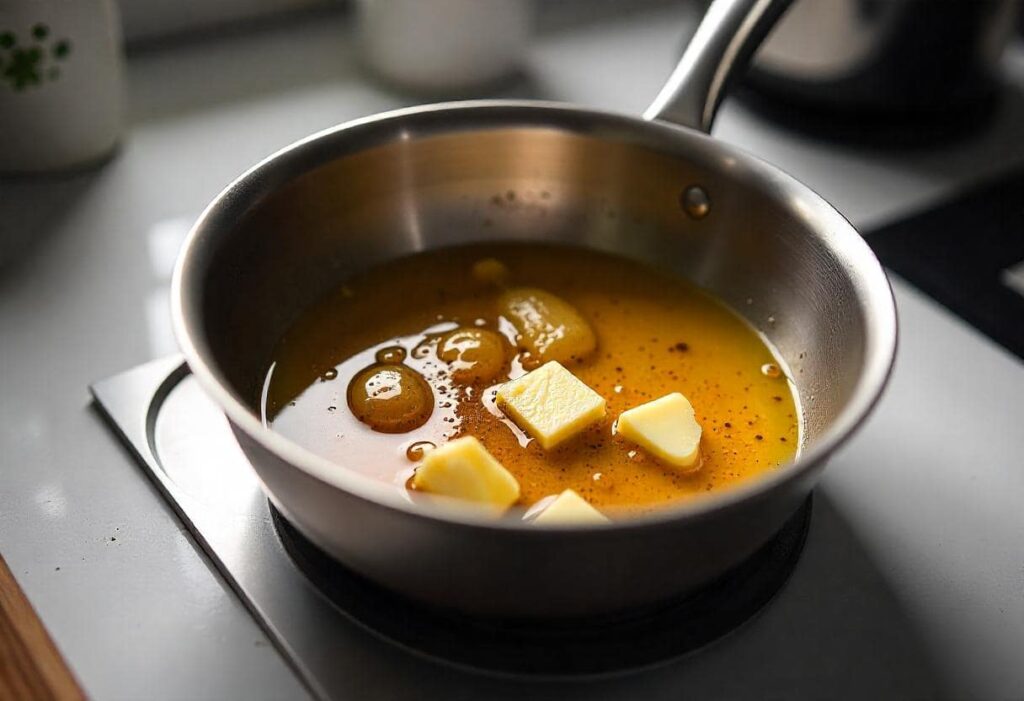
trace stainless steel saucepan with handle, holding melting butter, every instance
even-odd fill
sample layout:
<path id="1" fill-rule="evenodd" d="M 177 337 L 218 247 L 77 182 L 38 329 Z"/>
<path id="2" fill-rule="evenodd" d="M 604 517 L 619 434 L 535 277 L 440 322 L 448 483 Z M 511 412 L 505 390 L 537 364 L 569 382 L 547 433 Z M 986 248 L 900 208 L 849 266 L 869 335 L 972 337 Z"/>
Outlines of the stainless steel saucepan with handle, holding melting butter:
<path id="1" fill-rule="evenodd" d="M 778 530 L 879 398 L 896 345 L 888 281 L 853 226 L 707 133 L 729 78 L 784 4 L 717 0 L 644 119 L 532 101 L 401 109 L 288 146 L 217 196 L 177 264 L 175 328 L 291 523 L 409 597 L 521 617 L 672 598 Z M 793 373 L 799 459 L 650 516 L 541 528 L 411 503 L 262 426 L 271 349 L 304 308 L 368 266 L 483 239 L 610 251 L 725 300 Z"/>

